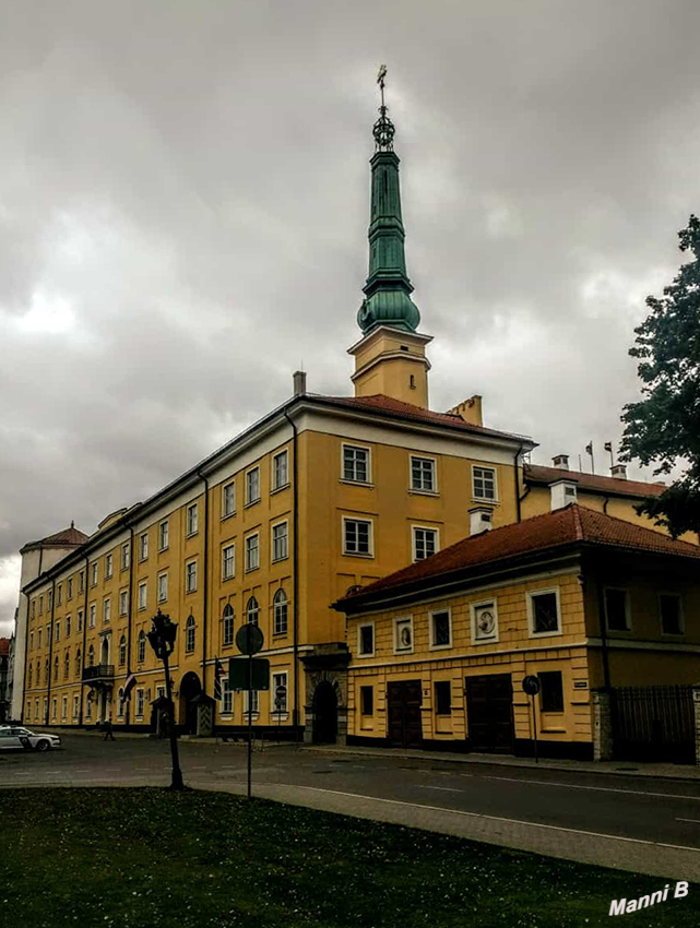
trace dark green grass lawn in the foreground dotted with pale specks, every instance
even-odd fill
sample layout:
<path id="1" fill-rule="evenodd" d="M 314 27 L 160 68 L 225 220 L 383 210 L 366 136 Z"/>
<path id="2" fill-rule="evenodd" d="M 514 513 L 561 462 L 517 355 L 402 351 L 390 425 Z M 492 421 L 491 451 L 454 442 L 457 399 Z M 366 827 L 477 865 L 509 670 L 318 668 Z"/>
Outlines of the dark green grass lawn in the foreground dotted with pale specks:
<path id="1" fill-rule="evenodd" d="M 0 792 L 2 928 L 594 928 L 665 883 L 226 794 Z M 697 928 L 699 903 L 622 920 Z"/>

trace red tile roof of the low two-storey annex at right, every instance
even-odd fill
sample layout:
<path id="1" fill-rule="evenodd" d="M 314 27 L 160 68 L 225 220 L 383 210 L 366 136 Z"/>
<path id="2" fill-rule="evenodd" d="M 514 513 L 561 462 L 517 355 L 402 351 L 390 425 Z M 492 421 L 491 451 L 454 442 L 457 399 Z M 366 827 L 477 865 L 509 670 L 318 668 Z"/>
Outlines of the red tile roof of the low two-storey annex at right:
<path id="1" fill-rule="evenodd" d="M 438 576 L 444 576 L 447 581 L 449 574 L 468 568 L 576 543 L 700 560 L 699 545 L 674 542 L 652 528 L 571 503 L 556 512 L 463 538 L 430 558 L 377 580 L 349 596 L 343 596 L 336 605 L 342 609 L 342 604 L 371 599 L 376 593 L 381 594 L 387 590 L 419 585 L 420 581 Z"/>

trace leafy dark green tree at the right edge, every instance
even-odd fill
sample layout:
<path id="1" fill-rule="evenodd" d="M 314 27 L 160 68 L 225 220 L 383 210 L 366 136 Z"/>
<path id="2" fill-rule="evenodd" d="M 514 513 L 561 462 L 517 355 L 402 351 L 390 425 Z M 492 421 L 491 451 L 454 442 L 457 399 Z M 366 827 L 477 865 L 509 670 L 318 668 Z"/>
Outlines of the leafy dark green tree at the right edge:
<path id="1" fill-rule="evenodd" d="M 678 233 L 683 264 L 661 299 L 646 297 L 651 313 L 634 330 L 629 354 L 640 358 L 639 403 L 622 413 L 621 460 L 655 465 L 654 474 L 684 467 L 683 476 L 637 511 L 668 528 L 674 538 L 700 532 L 700 221 L 691 215 Z"/>

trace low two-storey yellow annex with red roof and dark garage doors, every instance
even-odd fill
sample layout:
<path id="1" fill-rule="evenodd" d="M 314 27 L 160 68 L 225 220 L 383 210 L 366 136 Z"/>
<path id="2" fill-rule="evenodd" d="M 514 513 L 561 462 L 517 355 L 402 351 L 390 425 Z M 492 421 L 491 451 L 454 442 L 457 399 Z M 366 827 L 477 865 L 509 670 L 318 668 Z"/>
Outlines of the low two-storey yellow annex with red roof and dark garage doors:
<path id="1" fill-rule="evenodd" d="M 348 743 L 532 754 L 534 675 L 539 752 L 609 754 L 610 688 L 700 682 L 699 564 L 696 545 L 570 503 L 355 591 L 335 604 Z M 668 750 L 692 760 L 691 731 Z"/>

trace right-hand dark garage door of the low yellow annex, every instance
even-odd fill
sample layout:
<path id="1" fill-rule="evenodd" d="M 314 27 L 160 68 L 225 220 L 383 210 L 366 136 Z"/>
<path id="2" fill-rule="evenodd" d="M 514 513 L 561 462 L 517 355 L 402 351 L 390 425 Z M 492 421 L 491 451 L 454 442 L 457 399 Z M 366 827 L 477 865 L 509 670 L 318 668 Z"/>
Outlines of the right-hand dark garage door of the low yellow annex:
<path id="1" fill-rule="evenodd" d="M 513 751 L 513 688 L 510 674 L 466 677 L 466 719 L 474 751 L 509 754 Z"/>

